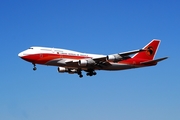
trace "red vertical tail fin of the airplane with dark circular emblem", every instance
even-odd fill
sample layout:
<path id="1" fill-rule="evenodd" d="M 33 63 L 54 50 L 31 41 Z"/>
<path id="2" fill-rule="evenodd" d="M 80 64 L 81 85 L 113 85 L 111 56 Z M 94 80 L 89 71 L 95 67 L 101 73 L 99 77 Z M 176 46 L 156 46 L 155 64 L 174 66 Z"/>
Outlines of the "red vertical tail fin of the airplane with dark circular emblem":
<path id="1" fill-rule="evenodd" d="M 153 60 L 156 52 L 158 50 L 158 46 L 160 44 L 160 40 L 152 40 L 148 43 L 143 49 L 146 51 L 139 52 L 133 56 L 133 58 L 145 59 L 145 60 Z"/>

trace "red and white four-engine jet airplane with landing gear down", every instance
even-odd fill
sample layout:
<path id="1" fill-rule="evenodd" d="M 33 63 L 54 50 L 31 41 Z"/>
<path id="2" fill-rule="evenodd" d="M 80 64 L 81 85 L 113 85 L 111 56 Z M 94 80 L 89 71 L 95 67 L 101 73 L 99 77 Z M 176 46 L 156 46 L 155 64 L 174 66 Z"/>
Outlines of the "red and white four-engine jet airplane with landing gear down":
<path id="1" fill-rule="evenodd" d="M 59 73 L 76 73 L 82 78 L 82 71 L 85 71 L 87 76 L 93 76 L 97 74 L 96 70 L 116 71 L 155 66 L 158 62 L 168 58 L 154 59 L 159 44 L 160 40 L 153 39 L 142 49 L 110 55 L 36 46 L 20 52 L 18 56 L 32 63 L 33 70 L 37 69 L 36 64 L 57 66 Z"/>

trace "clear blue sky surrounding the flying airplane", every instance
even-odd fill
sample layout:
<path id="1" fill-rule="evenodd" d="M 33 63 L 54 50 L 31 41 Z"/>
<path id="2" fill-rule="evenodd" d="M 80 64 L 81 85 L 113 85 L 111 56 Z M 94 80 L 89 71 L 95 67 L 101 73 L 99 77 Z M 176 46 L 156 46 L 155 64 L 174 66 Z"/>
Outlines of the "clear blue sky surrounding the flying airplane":
<path id="1" fill-rule="evenodd" d="M 178 0 L 1 0 L 1 120 L 179 120 Z M 161 39 L 155 67 L 83 77 L 33 66 L 30 46 L 112 54 Z"/>

